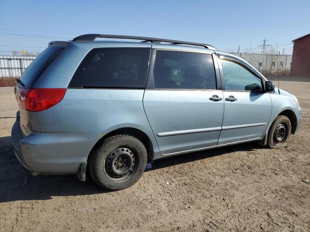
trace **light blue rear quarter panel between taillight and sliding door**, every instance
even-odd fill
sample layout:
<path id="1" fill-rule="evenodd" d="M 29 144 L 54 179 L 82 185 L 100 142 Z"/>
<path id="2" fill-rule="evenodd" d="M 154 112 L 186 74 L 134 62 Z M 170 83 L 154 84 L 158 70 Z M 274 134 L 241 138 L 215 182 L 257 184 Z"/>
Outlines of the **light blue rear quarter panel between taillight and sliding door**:
<path id="1" fill-rule="evenodd" d="M 119 128 L 143 131 L 158 152 L 153 131 L 146 118 L 142 99 L 144 89 L 67 89 L 54 107 L 29 112 L 32 131 L 93 132 L 105 135 Z"/>

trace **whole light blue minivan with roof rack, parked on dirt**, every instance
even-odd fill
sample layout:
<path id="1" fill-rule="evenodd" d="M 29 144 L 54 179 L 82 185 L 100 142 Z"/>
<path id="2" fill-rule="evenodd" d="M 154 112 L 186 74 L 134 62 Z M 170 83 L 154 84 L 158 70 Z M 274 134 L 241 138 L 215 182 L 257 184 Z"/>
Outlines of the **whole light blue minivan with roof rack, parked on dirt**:
<path id="1" fill-rule="evenodd" d="M 17 159 L 32 174 L 85 181 L 89 170 L 108 189 L 133 185 L 164 157 L 250 141 L 282 146 L 301 121 L 296 97 L 245 60 L 158 38 L 50 42 L 15 92 Z"/>

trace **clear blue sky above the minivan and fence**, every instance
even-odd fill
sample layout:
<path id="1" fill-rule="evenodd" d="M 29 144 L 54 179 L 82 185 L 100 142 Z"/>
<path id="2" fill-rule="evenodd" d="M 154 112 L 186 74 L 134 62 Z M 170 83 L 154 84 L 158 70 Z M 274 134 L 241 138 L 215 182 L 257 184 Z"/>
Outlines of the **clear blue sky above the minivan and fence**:
<path id="1" fill-rule="evenodd" d="M 208 43 L 220 50 L 289 44 L 310 33 L 310 0 L 0 0 L 0 54 L 42 51 L 84 33 Z M 292 53 L 292 44 L 279 46 Z M 282 53 L 282 50 L 281 50 Z"/>

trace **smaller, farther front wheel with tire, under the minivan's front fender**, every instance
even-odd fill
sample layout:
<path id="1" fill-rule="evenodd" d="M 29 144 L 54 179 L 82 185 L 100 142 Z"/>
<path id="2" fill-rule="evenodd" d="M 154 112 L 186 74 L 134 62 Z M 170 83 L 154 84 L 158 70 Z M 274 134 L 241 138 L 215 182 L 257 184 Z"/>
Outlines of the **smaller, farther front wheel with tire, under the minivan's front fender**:
<path id="1" fill-rule="evenodd" d="M 284 115 L 277 116 L 268 131 L 267 146 L 269 148 L 284 146 L 291 131 L 290 119 Z"/>

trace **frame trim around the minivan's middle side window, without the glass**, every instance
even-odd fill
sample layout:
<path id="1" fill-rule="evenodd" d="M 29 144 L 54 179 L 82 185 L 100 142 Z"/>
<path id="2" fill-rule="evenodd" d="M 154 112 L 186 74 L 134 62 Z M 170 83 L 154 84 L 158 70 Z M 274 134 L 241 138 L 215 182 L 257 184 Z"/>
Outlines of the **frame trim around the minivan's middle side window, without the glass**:
<path id="1" fill-rule="evenodd" d="M 216 80 L 215 80 L 216 81 L 216 88 L 215 89 L 155 88 L 154 72 L 153 71 L 154 71 L 154 66 L 155 66 L 156 51 L 188 52 L 188 53 L 199 53 L 199 54 L 211 55 L 212 59 L 213 59 L 213 68 L 214 68 L 214 71 L 215 71 L 214 73 L 215 73 L 215 77 L 216 77 Z M 177 90 L 177 91 L 215 91 L 215 90 L 221 90 L 221 80 L 220 80 L 220 74 L 219 74 L 216 55 L 215 55 L 215 53 L 212 53 L 209 51 L 193 51 L 193 50 L 183 50 L 183 49 L 177 49 L 177 48 L 176 49 L 172 49 L 172 48 L 152 48 L 145 89 L 148 89 L 148 90 Z"/>

